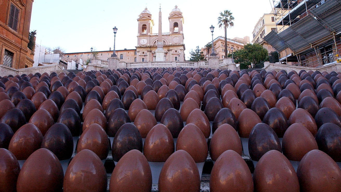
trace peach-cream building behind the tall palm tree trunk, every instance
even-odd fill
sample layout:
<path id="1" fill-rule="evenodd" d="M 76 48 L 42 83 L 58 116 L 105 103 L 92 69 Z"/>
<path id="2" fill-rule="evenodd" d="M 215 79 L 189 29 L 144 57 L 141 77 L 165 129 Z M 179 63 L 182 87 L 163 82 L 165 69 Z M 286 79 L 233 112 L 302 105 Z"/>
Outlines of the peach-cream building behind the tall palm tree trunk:
<path id="1" fill-rule="evenodd" d="M 244 48 L 244 45 L 250 43 L 250 37 L 245 36 L 244 38 L 233 38 L 228 39 L 227 38 L 227 54 L 231 53 L 231 47 L 233 47 L 234 51 L 240 50 Z M 214 45 L 214 52 L 217 54 L 217 56 L 220 59 L 223 59 L 225 57 L 225 38 L 223 36 L 218 36 L 216 39 L 213 40 Z M 207 47 L 201 48 L 201 51 L 205 55 L 205 59 L 208 60 L 208 57 L 212 53 L 212 49 Z"/>

